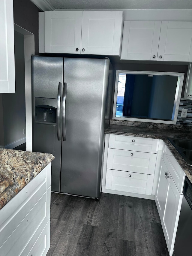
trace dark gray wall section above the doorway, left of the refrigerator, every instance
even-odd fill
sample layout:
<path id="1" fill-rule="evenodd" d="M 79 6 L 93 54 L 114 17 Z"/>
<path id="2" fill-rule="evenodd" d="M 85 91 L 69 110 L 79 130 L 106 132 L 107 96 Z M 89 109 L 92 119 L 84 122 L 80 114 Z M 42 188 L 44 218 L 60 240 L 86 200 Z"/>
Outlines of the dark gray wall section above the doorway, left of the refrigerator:
<path id="1" fill-rule="evenodd" d="M 30 0 L 13 0 L 14 23 L 35 35 L 35 54 L 39 54 L 39 11 Z"/>

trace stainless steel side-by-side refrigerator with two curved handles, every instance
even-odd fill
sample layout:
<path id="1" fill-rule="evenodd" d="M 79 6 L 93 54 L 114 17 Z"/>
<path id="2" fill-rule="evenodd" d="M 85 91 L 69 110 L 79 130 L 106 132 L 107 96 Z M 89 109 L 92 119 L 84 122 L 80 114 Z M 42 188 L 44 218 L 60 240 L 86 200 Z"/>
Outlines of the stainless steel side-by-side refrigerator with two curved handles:
<path id="1" fill-rule="evenodd" d="M 32 56 L 32 150 L 55 156 L 52 191 L 100 197 L 112 81 L 109 59 Z"/>

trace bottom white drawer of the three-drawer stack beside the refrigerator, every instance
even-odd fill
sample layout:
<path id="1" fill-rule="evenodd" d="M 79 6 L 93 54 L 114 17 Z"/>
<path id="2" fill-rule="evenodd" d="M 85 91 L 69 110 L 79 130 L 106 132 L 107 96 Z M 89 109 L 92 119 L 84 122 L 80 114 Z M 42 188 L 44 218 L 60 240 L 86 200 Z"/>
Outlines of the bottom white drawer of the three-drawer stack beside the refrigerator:
<path id="1" fill-rule="evenodd" d="M 151 195 L 153 178 L 153 175 L 107 169 L 105 188 Z"/>

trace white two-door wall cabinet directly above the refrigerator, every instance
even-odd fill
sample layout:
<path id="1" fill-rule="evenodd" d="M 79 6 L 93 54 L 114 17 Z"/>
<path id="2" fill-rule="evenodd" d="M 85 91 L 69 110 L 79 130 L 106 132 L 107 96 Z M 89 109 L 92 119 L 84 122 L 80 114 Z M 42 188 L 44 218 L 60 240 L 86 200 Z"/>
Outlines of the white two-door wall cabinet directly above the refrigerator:
<path id="1" fill-rule="evenodd" d="M 39 17 L 40 52 L 120 55 L 122 11 L 49 11 Z"/>

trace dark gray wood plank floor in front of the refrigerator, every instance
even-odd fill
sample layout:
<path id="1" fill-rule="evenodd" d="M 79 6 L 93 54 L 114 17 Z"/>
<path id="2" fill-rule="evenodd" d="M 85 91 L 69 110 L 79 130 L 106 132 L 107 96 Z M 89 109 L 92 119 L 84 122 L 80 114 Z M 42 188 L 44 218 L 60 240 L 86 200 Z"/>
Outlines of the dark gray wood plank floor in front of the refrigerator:
<path id="1" fill-rule="evenodd" d="M 47 256 L 168 256 L 155 201 L 51 193 Z"/>

